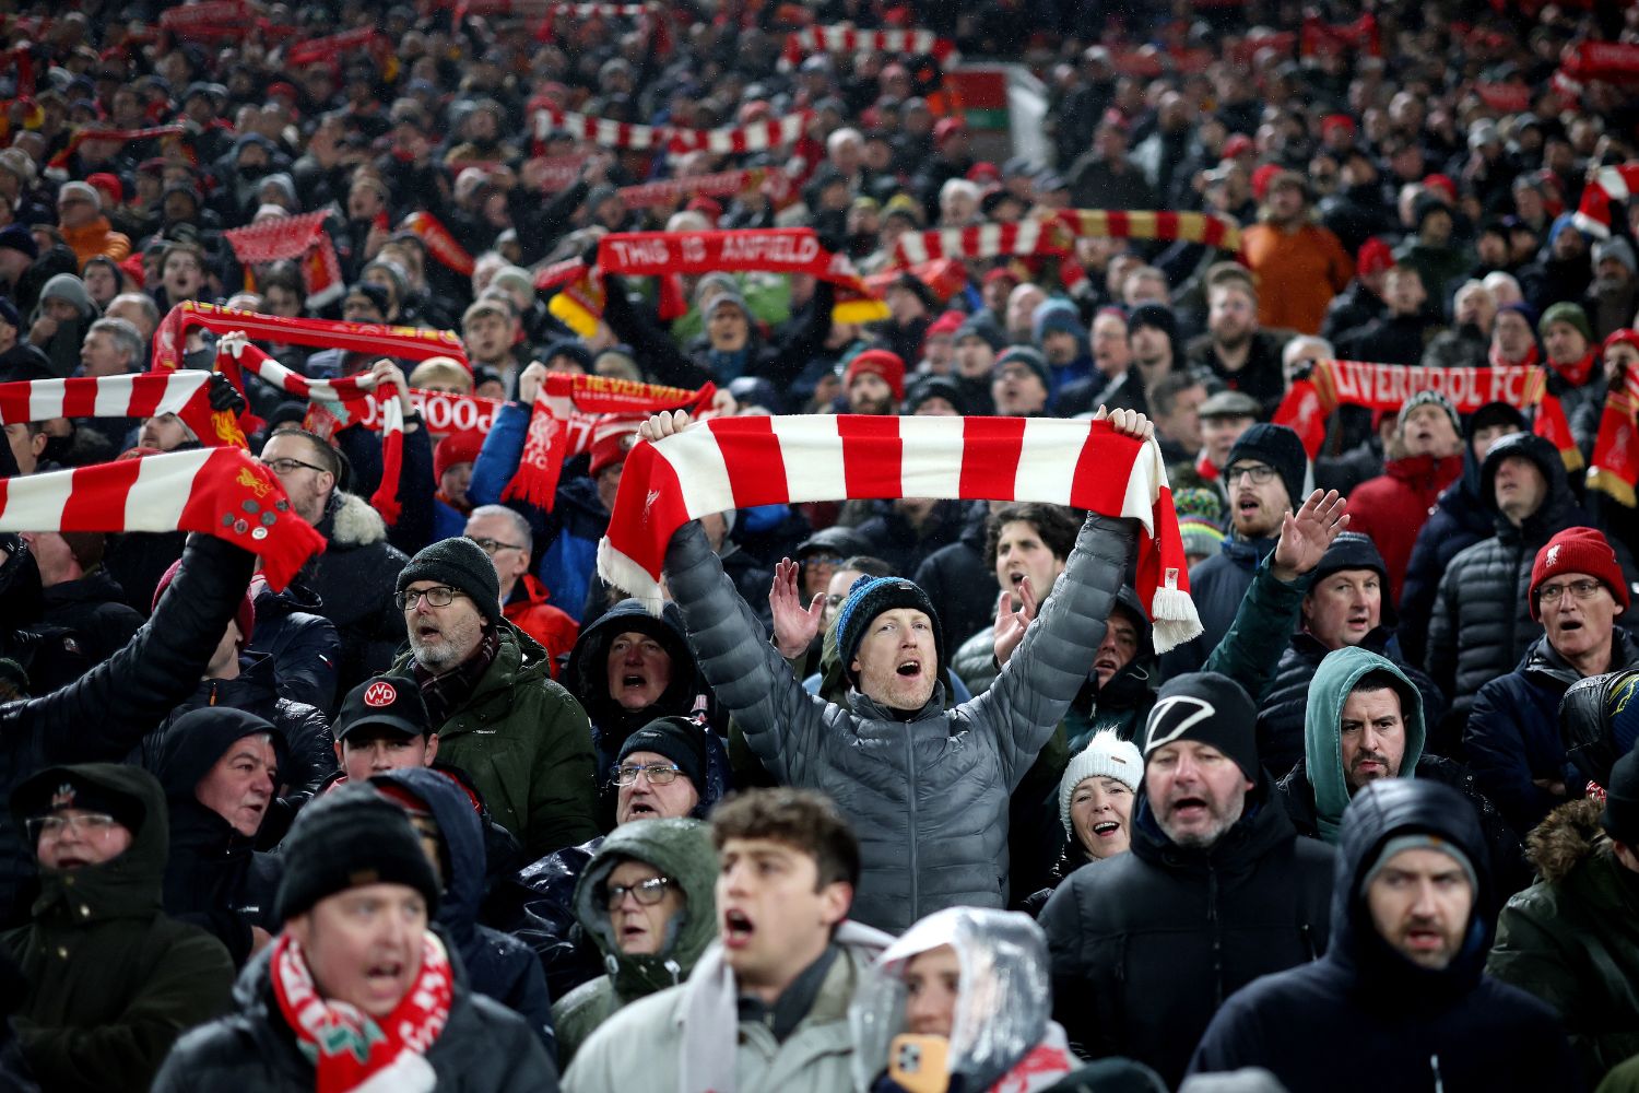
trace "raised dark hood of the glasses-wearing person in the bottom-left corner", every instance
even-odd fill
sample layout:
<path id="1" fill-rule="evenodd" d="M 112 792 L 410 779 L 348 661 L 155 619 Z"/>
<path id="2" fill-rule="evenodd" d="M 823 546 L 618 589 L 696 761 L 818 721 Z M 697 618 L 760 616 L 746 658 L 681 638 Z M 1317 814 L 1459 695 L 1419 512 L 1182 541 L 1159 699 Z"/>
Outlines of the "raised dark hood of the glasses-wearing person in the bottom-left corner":
<path id="1" fill-rule="evenodd" d="M 59 919 L 90 926 L 115 918 L 152 918 L 164 906 L 166 857 L 170 847 L 170 818 L 159 782 L 141 767 L 125 764 L 79 764 L 48 767 L 11 793 L 11 818 L 23 821 L 51 803 L 64 777 L 74 775 L 102 790 L 136 801 L 143 819 L 131 832 L 125 854 L 72 872 L 39 870 L 36 919 Z"/>

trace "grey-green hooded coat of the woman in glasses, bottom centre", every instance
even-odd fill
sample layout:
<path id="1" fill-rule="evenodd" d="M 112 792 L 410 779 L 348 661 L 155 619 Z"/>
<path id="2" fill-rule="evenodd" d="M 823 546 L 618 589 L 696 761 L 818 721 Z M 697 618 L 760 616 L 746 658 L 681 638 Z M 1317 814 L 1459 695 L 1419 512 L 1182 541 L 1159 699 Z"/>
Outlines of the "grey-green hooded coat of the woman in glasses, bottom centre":
<path id="1" fill-rule="evenodd" d="M 667 923 L 665 941 L 652 955 L 621 952 L 610 913 L 598 898 L 610 873 L 624 860 L 652 865 L 675 880 L 683 895 L 683 906 Z M 715 885 L 716 850 L 710 828 L 698 819 L 642 819 L 621 824 L 603 839 L 575 885 L 575 918 L 597 942 L 608 973 L 582 983 L 552 1006 L 559 1062 L 565 1068 L 611 1013 L 688 978 L 716 937 Z"/>

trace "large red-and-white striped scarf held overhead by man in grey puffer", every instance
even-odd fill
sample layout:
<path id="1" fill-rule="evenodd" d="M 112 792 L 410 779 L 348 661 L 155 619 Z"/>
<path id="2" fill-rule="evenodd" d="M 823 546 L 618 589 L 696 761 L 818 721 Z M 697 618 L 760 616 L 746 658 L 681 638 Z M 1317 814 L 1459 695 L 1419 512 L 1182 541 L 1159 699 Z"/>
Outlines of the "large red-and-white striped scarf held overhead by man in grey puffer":
<path id="1" fill-rule="evenodd" d="M 1046 501 L 1144 526 L 1134 587 L 1155 651 L 1201 633 L 1160 449 L 1108 421 L 801 415 L 701 421 L 626 457 L 598 574 L 661 613 L 661 567 L 690 519 L 754 505 L 933 497 Z"/>

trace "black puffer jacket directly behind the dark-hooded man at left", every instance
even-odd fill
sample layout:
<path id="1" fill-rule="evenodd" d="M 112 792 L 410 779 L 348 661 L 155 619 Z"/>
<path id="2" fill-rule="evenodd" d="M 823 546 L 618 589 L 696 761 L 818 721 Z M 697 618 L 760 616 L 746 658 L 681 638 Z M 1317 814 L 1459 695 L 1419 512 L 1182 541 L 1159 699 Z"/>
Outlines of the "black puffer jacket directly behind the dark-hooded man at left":
<path id="1" fill-rule="evenodd" d="M 279 764 L 279 785 L 288 787 L 267 810 L 262 829 L 256 832 L 261 849 L 274 847 L 285 832 L 297 810 L 313 800 L 325 782 L 336 773 L 336 741 L 329 732 L 329 719 L 313 706 L 280 698 L 274 690 L 272 657 L 239 654 L 239 675 L 231 680 L 200 680 L 193 695 L 170 711 L 154 732 L 143 741 L 143 765 L 159 767 L 159 746 L 170 724 L 203 706 L 226 706 L 270 721 L 284 737 L 285 757 Z"/>

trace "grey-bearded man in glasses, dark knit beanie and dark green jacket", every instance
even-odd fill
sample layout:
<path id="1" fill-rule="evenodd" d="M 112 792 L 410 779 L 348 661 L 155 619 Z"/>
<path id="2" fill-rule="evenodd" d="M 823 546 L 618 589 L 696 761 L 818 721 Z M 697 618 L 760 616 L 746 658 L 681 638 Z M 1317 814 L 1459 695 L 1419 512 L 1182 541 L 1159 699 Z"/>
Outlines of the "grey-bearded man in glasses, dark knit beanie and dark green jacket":
<path id="1" fill-rule="evenodd" d="M 439 760 L 459 767 L 495 821 L 541 857 L 595 836 L 592 729 L 552 680 L 546 651 L 502 618 L 500 580 L 477 542 L 443 539 L 398 574 L 410 652 Z"/>

